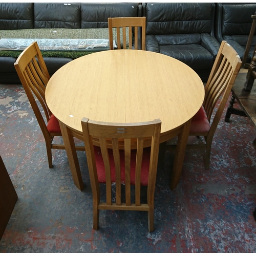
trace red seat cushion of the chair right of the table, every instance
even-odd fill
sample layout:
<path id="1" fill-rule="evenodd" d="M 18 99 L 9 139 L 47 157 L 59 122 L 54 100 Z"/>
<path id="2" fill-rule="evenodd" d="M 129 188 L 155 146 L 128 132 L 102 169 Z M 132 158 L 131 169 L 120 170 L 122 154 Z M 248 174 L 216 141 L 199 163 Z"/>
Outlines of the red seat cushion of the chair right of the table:
<path id="1" fill-rule="evenodd" d="M 205 113 L 204 107 L 201 106 L 200 110 L 191 120 L 189 133 L 207 133 L 210 130 L 210 124 Z"/>

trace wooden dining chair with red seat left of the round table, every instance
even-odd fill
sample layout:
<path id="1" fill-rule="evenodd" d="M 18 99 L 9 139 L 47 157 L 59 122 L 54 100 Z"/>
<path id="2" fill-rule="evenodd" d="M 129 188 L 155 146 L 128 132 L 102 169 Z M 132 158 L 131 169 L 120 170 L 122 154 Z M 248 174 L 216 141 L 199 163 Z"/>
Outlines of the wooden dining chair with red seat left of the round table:
<path id="1" fill-rule="evenodd" d="M 19 55 L 14 63 L 14 67 L 22 82 L 42 134 L 45 137 L 49 168 L 52 168 L 52 148 L 65 150 L 65 145 L 52 143 L 54 136 L 61 136 L 61 131 L 57 118 L 51 113 L 46 104 L 45 90 L 50 75 L 36 41 L 32 42 Z M 39 101 L 42 111 L 45 113 L 46 121 L 41 114 L 36 99 Z M 84 151 L 84 147 L 77 146 L 76 150 Z"/>

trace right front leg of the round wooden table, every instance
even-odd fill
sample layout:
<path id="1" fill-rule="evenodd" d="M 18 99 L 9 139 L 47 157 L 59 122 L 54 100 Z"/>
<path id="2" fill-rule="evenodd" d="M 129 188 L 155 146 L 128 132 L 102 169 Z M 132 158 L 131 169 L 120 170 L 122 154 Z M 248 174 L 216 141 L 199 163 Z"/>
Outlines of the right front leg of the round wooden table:
<path id="1" fill-rule="evenodd" d="M 178 142 L 175 151 L 174 167 L 172 172 L 172 178 L 170 179 L 170 189 L 175 189 L 179 184 L 183 160 L 186 151 L 187 139 L 190 129 L 191 119 L 188 120 L 182 127 L 180 134 L 178 135 Z"/>

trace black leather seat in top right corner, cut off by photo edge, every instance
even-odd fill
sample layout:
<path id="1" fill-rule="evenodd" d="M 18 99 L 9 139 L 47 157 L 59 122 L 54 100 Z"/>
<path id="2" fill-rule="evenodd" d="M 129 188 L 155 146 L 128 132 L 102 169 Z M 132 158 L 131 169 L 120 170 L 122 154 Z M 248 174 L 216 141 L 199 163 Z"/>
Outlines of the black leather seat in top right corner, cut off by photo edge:
<path id="1" fill-rule="evenodd" d="M 226 40 L 243 59 L 256 4 L 218 3 L 216 7 L 215 36 L 219 42 Z M 253 36 L 247 63 L 250 62 L 256 45 L 256 31 Z"/>

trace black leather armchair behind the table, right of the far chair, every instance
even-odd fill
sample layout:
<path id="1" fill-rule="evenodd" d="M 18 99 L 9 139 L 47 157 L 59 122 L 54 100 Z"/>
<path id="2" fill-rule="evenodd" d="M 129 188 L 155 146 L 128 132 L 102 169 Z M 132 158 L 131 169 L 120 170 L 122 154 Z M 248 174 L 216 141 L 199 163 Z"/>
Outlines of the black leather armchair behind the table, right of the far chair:
<path id="1" fill-rule="evenodd" d="M 215 4 L 147 3 L 142 9 L 146 50 L 179 59 L 206 81 L 220 47 L 214 38 Z"/>

